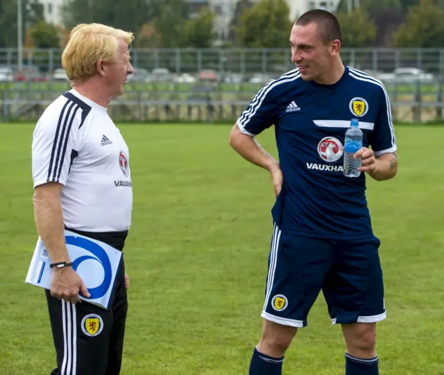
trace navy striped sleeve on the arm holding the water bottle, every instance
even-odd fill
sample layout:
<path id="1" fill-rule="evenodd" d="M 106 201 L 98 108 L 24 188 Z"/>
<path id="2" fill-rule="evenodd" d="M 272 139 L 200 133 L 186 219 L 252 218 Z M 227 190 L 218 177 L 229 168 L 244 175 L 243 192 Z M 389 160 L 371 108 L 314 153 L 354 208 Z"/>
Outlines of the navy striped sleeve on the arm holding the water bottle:
<path id="1" fill-rule="evenodd" d="M 381 85 L 381 87 L 382 89 L 379 90 L 379 114 L 377 115 L 371 142 L 372 150 L 376 156 L 397 150 L 390 98 L 388 98 L 384 85 Z"/>

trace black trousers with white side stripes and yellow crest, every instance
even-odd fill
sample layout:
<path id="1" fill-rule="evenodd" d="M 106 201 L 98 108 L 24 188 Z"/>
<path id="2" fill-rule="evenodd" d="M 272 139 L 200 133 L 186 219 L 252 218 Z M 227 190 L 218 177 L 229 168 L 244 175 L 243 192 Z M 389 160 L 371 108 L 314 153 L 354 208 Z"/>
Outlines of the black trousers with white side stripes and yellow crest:
<path id="1" fill-rule="evenodd" d="M 121 251 L 128 234 L 69 230 Z M 57 354 L 57 368 L 51 375 L 118 375 L 128 311 L 123 256 L 108 310 L 85 301 L 77 304 L 60 301 L 49 290 L 45 293 Z"/>

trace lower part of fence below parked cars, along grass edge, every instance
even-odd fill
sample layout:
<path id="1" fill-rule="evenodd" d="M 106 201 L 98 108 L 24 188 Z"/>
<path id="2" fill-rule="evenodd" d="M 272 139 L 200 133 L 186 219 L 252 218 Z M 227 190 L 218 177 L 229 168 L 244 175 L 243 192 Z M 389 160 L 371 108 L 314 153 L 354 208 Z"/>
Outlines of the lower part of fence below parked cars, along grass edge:
<path id="1" fill-rule="evenodd" d="M 260 84 L 225 82 L 128 82 L 123 96 L 112 101 L 114 121 L 234 122 L 260 89 Z M 67 82 L 18 82 L 0 90 L 3 121 L 36 121 L 49 103 L 69 89 Z M 444 80 L 386 83 L 393 121 L 444 123 Z"/>

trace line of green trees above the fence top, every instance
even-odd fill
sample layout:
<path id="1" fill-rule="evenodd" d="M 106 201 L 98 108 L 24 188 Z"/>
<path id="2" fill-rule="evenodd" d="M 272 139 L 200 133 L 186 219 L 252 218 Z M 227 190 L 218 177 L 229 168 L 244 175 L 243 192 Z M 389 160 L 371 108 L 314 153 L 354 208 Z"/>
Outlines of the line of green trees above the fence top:
<path id="1" fill-rule="evenodd" d="M 0 48 L 17 46 L 17 0 L 0 0 Z M 135 33 L 135 48 L 210 48 L 218 39 L 216 14 L 186 0 L 67 0 L 62 6 L 65 28 L 44 19 L 38 0 L 22 0 L 24 46 L 60 48 L 71 27 L 99 22 Z M 343 28 L 343 47 L 441 48 L 444 0 L 361 0 L 335 12 Z M 291 17 L 290 17 L 291 16 Z M 221 47 L 285 48 L 292 21 L 285 0 L 240 0 Z M 220 40 L 220 38 L 219 38 Z"/>

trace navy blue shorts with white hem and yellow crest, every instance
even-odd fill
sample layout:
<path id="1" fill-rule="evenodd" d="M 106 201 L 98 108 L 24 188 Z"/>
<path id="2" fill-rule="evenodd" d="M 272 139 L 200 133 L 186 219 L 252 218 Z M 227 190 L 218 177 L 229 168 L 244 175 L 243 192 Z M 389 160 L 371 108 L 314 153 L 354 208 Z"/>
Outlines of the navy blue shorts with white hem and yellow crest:
<path id="1" fill-rule="evenodd" d="M 384 320 L 379 239 L 326 240 L 284 234 L 274 226 L 262 317 L 303 327 L 321 290 L 332 323 Z"/>

